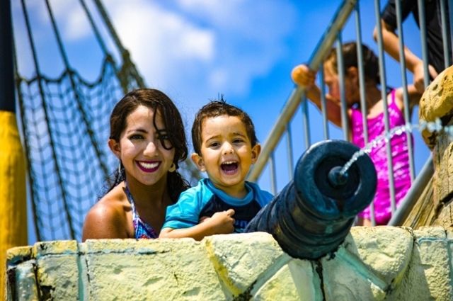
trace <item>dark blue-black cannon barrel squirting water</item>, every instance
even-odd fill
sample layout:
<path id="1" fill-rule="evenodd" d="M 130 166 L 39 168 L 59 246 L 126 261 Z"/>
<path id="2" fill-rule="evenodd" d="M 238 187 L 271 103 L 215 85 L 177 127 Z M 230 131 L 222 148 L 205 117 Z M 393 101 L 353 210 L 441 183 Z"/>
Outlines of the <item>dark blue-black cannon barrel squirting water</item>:
<path id="1" fill-rule="evenodd" d="M 343 140 L 313 144 L 297 161 L 294 180 L 258 212 L 246 232 L 273 234 L 287 254 L 299 259 L 336 251 L 376 192 L 376 170 L 367 154 L 340 173 L 359 150 Z"/>

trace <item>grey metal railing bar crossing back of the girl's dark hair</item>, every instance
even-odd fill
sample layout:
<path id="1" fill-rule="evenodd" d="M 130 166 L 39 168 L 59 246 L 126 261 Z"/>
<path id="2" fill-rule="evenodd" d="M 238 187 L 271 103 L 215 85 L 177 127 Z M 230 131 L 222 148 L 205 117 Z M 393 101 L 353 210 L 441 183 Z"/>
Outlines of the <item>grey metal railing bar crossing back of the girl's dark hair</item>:
<path id="1" fill-rule="evenodd" d="M 363 62 L 363 48 L 362 48 L 362 25 L 360 23 L 360 2 L 355 6 L 355 34 L 357 35 L 357 69 L 359 71 L 359 90 L 360 90 L 360 110 L 362 111 L 362 124 L 363 124 L 363 140 L 365 145 L 369 142 L 368 135 L 368 118 L 367 118 L 367 100 L 365 91 L 365 66 Z M 371 225 L 376 225 L 376 217 L 374 215 L 374 202 L 369 204 L 369 215 L 371 216 Z"/>

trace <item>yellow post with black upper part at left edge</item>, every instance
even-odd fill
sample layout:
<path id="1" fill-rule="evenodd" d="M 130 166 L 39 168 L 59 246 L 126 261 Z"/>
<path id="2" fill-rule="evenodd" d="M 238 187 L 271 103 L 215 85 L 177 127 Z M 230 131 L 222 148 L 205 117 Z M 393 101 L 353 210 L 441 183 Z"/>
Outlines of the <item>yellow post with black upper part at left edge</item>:
<path id="1" fill-rule="evenodd" d="M 0 1 L 0 299 L 6 295 L 6 250 L 27 244 L 25 156 L 19 137 L 10 1 Z"/>

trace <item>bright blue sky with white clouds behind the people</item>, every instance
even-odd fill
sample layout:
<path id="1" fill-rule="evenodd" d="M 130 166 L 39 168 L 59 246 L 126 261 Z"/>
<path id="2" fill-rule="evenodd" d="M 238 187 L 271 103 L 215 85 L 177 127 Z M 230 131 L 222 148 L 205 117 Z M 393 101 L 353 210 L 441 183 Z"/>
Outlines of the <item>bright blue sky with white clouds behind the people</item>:
<path id="1" fill-rule="evenodd" d="M 33 74 L 20 1 L 11 1 L 18 68 Z M 45 1 L 29 0 L 30 18 L 43 72 L 62 72 L 55 38 L 45 11 Z M 86 1 L 92 7 L 91 1 Z M 110 19 L 148 86 L 161 89 L 180 108 L 189 129 L 193 115 L 207 101 L 223 94 L 226 101 L 246 110 L 256 125 L 258 139 L 264 142 L 294 85 L 292 67 L 306 62 L 314 51 L 333 13 L 343 1 L 308 0 L 104 0 Z M 385 1 L 382 1 L 382 6 Z M 69 61 L 86 77 L 99 73 L 101 51 L 81 10 L 79 1 L 50 1 L 62 28 Z M 377 50 L 372 40 L 375 24 L 374 1 L 361 1 L 362 40 Z M 353 18 L 350 18 L 353 19 Z M 420 55 L 418 28 L 412 18 L 404 23 L 406 42 Z M 350 20 L 343 41 L 355 39 Z M 111 40 L 108 47 L 113 49 Z M 401 71 L 386 57 L 391 86 L 401 85 Z M 408 74 L 411 80 L 411 74 Z M 321 117 L 310 106 L 313 142 L 322 139 Z M 418 112 L 413 112 L 417 121 Z M 108 118 L 107 116 L 105 118 Z M 299 119 L 298 119 L 299 118 Z M 305 149 L 302 121 L 293 121 L 294 158 Z M 343 137 L 331 127 L 332 137 Z M 280 157 L 277 151 L 277 156 Z M 420 170 L 429 151 L 415 133 L 415 168 Z M 282 166 L 281 166 L 282 165 Z M 278 190 L 287 183 L 287 164 L 277 164 Z M 270 190 L 268 176 L 260 179 Z"/>

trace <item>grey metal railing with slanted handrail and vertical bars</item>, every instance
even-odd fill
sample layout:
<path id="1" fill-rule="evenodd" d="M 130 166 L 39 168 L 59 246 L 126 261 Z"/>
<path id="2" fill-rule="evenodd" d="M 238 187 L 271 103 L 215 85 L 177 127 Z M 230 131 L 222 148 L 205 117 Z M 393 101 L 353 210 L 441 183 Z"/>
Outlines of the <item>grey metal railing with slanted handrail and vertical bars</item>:
<path id="1" fill-rule="evenodd" d="M 429 76 L 428 76 L 428 50 L 426 47 L 426 25 L 425 25 L 425 18 L 424 13 L 424 3 L 423 0 L 418 0 L 418 6 L 420 7 L 420 40 L 421 40 L 421 48 L 422 48 L 422 57 L 423 62 L 425 63 L 425 86 L 429 84 Z M 442 16 L 442 38 L 446 41 L 447 37 L 449 36 L 452 30 L 449 27 L 452 26 L 450 23 L 447 25 L 447 20 L 449 16 L 452 16 L 452 7 L 449 8 L 447 11 L 447 7 L 445 5 L 445 0 L 440 1 L 440 12 Z M 381 28 L 381 4 L 379 0 L 374 1 L 374 12 L 376 20 L 376 28 L 377 28 L 377 46 L 378 52 L 377 55 L 379 57 L 379 74 L 381 80 L 381 91 L 382 91 L 382 98 L 386 99 L 386 70 L 384 64 L 384 45 L 383 45 L 383 38 L 382 38 L 382 28 Z M 355 14 L 355 33 L 356 33 L 356 42 L 357 45 L 362 45 L 362 25 L 361 25 L 361 18 L 360 18 L 360 9 L 359 9 L 359 1 L 357 0 L 345 0 L 340 5 L 338 10 L 336 11 L 333 19 L 328 25 L 325 33 L 321 37 L 318 45 L 316 45 L 311 58 L 307 65 L 312 70 L 319 70 L 319 76 L 321 84 L 319 84 L 321 89 L 321 96 L 324 96 L 324 85 L 323 85 L 323 72 L 321 66 L 323 64 L 323 59 L 326 57 L 328 52 L 331 51 L 334 43 L 336 42 L 337 45 L 342 45 L 342 30 L 347 23 L 348 18 L 350 18 L 351 14 Z M 408 81 L 406 76 L 406 64 L 405 64 L 405 57 L 404 57 L 404 40 L 403 40 L 403 27 L 402 27 L 402 18 L 401 18 L 401 4 L 399 1 L 396 1 L 396 21 L 397 21 L 397 30 L 398 30 L 398 37 L 399 37 L 399 57 L 401 59 L 401 81 L 403 86 L 403 104 L 405 108 L 409 108 L 408 103 Z M 451 64 L 451 59 L 449 55 L 449 45 L 447 42 L 444 42 L 444 54 L 445 54 L 445 67 L 448 67 Z M 345 82 L 344 82 L 344 72 L 343 72 L 343 54 L 341 53 L 341 47 L 337 47 L 339 50 L 337 52 L 338 56 L 338 77 L 340 79 L 340 102 L 341 102 L 341 118 L 342 118 L 342 130 L 343 130 L 343 139 L 349 140 L 348 137 L 348 122 L 345 122 L 347 115 L 347 108 L 345 103 Z M 367 108 L 365 102 L 365 72 L 363 70 L 363 57 L 362 57 L 362 47 L 357 47 L 357 59 L 359 62 L 358 66 L 358 73 L 359 73 L 359 82 L 360 82 L 360 109 L 362 110 L 362 115 L 364 116 L 363 125 L 364 125 L 364 139 L 365 144 L 369 142 L 369 138 L 367 135 Z M 287 154 L 288 154 L 288 166 L 292 166 L 294 169 L 294 162 L 292 158 L 293 149 L 292 149 L 292 131 L 291 131 L 291 123 L 294 115 L 297 113 L 297 108 L 300 107 L 302 111 L 302 132 L 304 133 L 304 142 L 306 147 L 311 145 L 311 130 L 309 128 L 309 110 L 307 108 L 307 101 L 305 98 L 305 89 L 302 86 L 295 86 L 292 93 L 289 96 L 289 99 L 285 103 L 285 106 L 282 108 L 280 115 L 277 118 L 277 121 L 273 125 L 272 129 L 270 130 L 270 134 L 268 138 L 265 140 L 263 144 L 262 151 L 260 153 L 260 157 L 258 157 L 258 161 L 253 166 L 250 174 L 248 175 L 249 181 L 257 181 L 258 178 L 262 175 L 266 166 L 269 166 L 270 170 L 270 181 L 271 181 L 271 188 L 273 193 L 277 193 L 277 178 L 276 178 L 276 168 L 275 168 L 275 149 L 277 148 L 277 144 L 280 143 L 282 140 L 283 135 L 287 136 Z M 389 113 L 387 108 L 386 101 L 383 102 L 384 106 L 384 125 L 385 125 L 385 132 L 388 133 L 389 130 Z M 411 116 L 409 110 L 404 110 L 404 120 L 406 124 L 411 123 Z M 328 120 L 326 115 L 326 98 L 321 97 L 321 114 L 323 120 L 323 133 L 324 139 L 329 139 L 329 131 L 328 131 Z M 299 132 L 299 131 L 298 131 Z M 408 143 L 408 152 L 409 152 L 409 168 L 411 172 L 411 180 L 413 185 L 411 189 L 406 194 L 406 197 L 401 201 L 400 206 L 396 208 L 396 200 L 395 200 L 395 191 L 394 191 L 394 175 L 392 172 L 389 172 L 389 188 L 391 193 L 391 212 L 392 218 L 389 222 L 389 225 L 399 225 L 404 218 L 407 217 L 408 211 L 411 210 L 413 203 L 417 200 L 420 194 L 423 192 L 423 189 L 427 185 L 429 179 L 432 177 L 433 169 L 432 169 L 432 158 L 428 157 L 425 166 L 420 171 L 418 176 L 415 178 L 415 167 L 414 167 L 414 157 L 413 157 L 413 142 L 411 133 L 407 133 L 407 143 Z M 390 143 L 386 143 L 386 155 L 387 155 L 387 163 L 389 164 L 389 171 L 392 171 L 392 157 L 391 157 L 391 146 Z M 289 169 L 289 173 L 292 173 L 292 169 Z M 291 176 L 290 176 L 291 178 Z M 371 213 L 372 213 L 372 225 L 375 225 L 374 222 L 374 210 L 373 206 L 371 206 Z"/>

